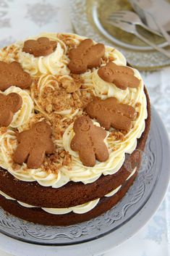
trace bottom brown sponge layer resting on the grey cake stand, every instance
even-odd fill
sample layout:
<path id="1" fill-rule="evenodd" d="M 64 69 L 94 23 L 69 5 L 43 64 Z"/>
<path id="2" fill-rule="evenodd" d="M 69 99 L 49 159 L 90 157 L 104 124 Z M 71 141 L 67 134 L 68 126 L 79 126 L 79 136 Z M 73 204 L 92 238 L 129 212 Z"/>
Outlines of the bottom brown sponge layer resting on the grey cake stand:
<path id="1" fill-rule="evenodd" d="M 124 183 L 122 189 L 120 189 L 114 196 L 112 197 L 103 197 L 98 202 L 98 205 L 90 210 L 89 212 L 83 214 L 76 214 L 74 212 L 70 212 L 64 215 L 54 215 L 48 212 L 41 210 L 41 208 L 27 208 L 22 207 L 17 202 L 14 202 L 9 199 L 5 199 L 4 197 L 0 196 L 0 205 L 7 210 L 7 212 L 15 215 L 19 218 L 24 220 L 39 223 L 43 225 L 50 225 L 50 226 L 69 226 L 72 224 L 80 223 L 86 220 L 90 220 L 91 218 L 95 218 L 98 215 L 101 215 L 103 212 L 111 209 L 117 202 L 119 202 L 124 194 L 126 194 L 129 187 L 132 185 L 133 181 L 137 176 L 137 171 L 135 174 L 129 178 L 129 180 Z"/>

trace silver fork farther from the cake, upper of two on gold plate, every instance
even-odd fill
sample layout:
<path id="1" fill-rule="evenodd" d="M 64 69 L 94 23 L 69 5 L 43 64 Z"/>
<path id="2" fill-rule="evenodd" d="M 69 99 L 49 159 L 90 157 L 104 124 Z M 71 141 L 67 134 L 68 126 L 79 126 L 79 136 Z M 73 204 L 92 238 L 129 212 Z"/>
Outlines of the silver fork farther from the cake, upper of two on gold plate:
<path id="1" fill-rule="evenodd" d="M 149 28 L 147 25 L 145 25 L 142 20 L 140 20 L 140 17 L 135 12 L 130 11 L 118 11 L 113 12 L 109 17 L 108 20 L 120 20 L 128 23 L 132 23 L 134 25 L 140 25 L 141 27 L 145 28 L 146 30 L 150 31 L 151 33 L 154 33 L 158 36 L 162 36 L 161 33 L 158 33 L 158 31 L 153 30 Z"/>

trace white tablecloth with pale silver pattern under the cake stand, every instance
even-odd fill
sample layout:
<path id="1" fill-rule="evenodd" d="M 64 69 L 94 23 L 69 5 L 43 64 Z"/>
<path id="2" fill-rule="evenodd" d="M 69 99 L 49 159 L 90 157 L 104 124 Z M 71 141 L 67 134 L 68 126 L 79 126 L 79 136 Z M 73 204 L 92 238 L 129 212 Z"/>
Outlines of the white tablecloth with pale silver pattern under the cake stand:
<path id="1" fill-rule="evenodd" d="M 43 31 L 72 32 L 69 19 L 69 1 L 0 0 L 0 46 L 6 46 L 13 41 Z M 161 115 L 170 136 L 170 67 L 153 73 L 143 73 L 143 78 L 150 94 L 151 103 Z M 2 251 L 0 251 L 0 255 L 9 256 Z M 170 255 L 170 189 L 158 211 L 147 225 L 135 236 L 119 247 L 106 252 L 105 255 Z M 38 255 L 37 252 L 37 256 L 41 255 Z"/>

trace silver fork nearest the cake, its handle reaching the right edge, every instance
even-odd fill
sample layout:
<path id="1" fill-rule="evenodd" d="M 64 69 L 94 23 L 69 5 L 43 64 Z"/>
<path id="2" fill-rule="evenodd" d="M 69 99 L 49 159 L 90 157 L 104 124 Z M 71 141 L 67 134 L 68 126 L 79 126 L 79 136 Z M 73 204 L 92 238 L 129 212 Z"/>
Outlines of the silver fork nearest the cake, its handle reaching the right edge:
<path id="1" fill-rule="evenodd" d="M 140 35 L 140 33 L 137 32 L 136 26 L 134 24 L 129 24 L 127 22 L 122 22 L 122 21 L 119 21 L 119 20 L 106 20 L 106 22 L 111 24 L 111 25 L 114 25 L 116 28 L 120 28 L 120 29 L 122 29 L 122 30 L 124 30 L 128 33 L 134 34 L 135 36 L 140 38 L 140 40 L 144 41 L 145 44 L 148 44 L 153 49 L 156 49 L 157 51 L 160 51 L 166 57 L 170 58 L 170 52 L 169 51 L 166 51 L 165 49 L 162 49 L 161 47 L 157 46 L 156 44 L 153 44 L 152 42 L 150 42 L 144 36 Z"/>

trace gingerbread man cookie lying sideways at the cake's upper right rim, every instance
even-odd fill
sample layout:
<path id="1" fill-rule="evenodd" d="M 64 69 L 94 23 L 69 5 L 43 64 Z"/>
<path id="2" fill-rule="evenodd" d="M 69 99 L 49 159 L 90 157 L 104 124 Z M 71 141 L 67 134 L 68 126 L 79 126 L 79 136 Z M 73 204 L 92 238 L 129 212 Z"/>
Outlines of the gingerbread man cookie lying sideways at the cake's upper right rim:
<path id="1" fill-rule="evenodd" d="M 127 87 L 135 88 L 140 85 L 140 80 L 135 77 L 134 71 L 130 67 L 119 66 L 114 62 L 109 62 L 104 67 L 100 67 L 98 75 L 101 79 L 109 83 L 114 83 L 115 86 L 122 90 Z"/>

